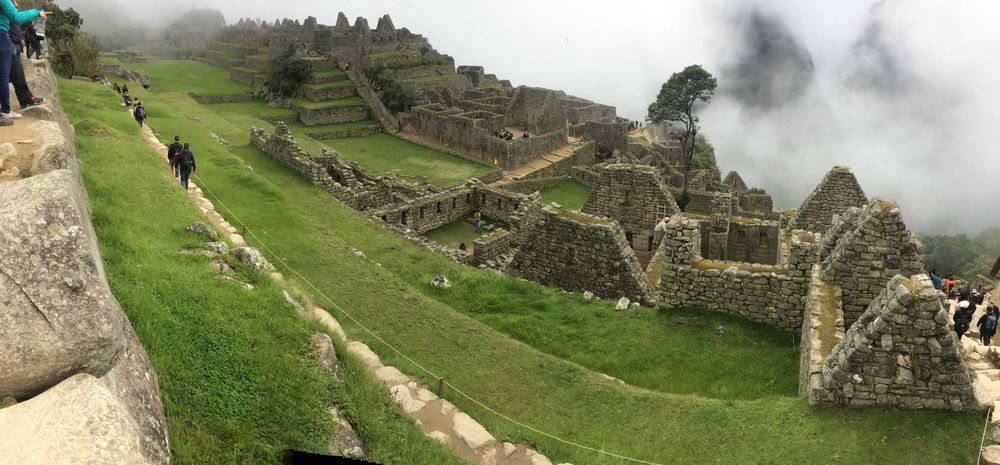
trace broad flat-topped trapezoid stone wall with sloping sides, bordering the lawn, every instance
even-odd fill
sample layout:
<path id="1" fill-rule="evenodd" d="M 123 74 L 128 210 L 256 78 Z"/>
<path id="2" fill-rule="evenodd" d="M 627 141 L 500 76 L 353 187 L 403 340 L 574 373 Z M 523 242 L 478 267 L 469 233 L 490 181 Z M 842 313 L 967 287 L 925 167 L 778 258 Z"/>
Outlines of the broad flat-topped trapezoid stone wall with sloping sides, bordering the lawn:
<path id="1" fill-rule="evenodd" d="M 526 236 L 509 273 L 568 291 L 649 302 L 645 271 L 618 223 L 547 205 Z"/>

